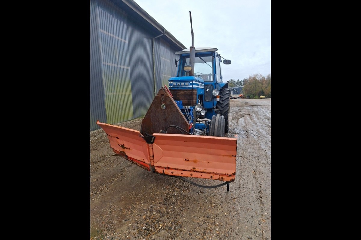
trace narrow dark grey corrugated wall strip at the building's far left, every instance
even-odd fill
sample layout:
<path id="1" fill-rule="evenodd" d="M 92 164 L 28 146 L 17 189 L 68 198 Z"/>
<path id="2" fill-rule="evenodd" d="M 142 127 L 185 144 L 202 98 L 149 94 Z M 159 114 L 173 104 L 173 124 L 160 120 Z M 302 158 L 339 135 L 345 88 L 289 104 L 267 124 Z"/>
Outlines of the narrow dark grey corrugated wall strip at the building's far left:
<path id="1" fill-rule="evenodd" d="M 104 86 L 99 51 L 97 6 L 90 1 L 90 131 L 99 129 L 96 121 L 106 122 Z"/>

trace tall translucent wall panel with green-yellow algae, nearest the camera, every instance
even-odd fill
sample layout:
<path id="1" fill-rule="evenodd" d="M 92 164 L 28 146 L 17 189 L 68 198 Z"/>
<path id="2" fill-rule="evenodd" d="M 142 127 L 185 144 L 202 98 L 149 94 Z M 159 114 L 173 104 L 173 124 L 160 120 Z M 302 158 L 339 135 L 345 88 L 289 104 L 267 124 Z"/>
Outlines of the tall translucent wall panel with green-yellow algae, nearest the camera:
<path id="1" fill-rule="evenodd" d="M 100 53 L 107 123 L 133 119 L 126 13 L 109 1 L 98 1 Z"/>

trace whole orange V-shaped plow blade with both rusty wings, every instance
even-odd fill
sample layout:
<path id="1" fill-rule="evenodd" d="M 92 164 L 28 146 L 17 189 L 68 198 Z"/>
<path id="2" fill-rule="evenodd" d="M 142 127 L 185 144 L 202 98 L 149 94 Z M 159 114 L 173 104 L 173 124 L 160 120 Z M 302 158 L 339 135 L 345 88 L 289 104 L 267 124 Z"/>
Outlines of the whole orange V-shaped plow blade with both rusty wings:
<path id="1" fill-rule="evenodd" d="M 236 174 L 237 137 L 153 133 L 100 123 L 110 147 L 130 162 L 162 175 L 232 182 Z"/>

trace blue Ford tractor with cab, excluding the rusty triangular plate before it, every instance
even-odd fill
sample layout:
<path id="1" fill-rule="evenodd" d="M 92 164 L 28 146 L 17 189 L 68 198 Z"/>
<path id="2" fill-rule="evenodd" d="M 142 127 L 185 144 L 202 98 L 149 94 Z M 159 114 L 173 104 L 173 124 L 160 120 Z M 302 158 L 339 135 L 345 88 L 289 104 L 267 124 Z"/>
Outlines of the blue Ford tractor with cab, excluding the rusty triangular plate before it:
<path id="1" fill-rule="evenodd" d="M 190 65 L 190 49 L 175 54 L 179 54 L 179 66 L 177 77 L 169 79 L 169 90 L 188 122 L 193 124 L 190 133 L 199 129 L 206 130 L 208 136 L 224 137 L 229 130 L 230 90 L 228 83 L 222 81 L 222 57 L 218 49 L 195 49 L 194 67 Z M 231 61 L 223 60 L 223 63 Z"/>

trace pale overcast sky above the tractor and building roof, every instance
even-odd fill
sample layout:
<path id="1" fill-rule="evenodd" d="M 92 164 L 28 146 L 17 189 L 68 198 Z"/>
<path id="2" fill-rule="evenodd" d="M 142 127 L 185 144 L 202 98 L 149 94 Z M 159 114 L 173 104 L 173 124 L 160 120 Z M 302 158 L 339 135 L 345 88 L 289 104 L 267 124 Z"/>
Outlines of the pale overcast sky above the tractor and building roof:
<path id="1" fill-rule="evenodd" d="M 271 73 L 270 0 L 134 0 L 184 46 L 217 47 L 223 81 Z"/>

